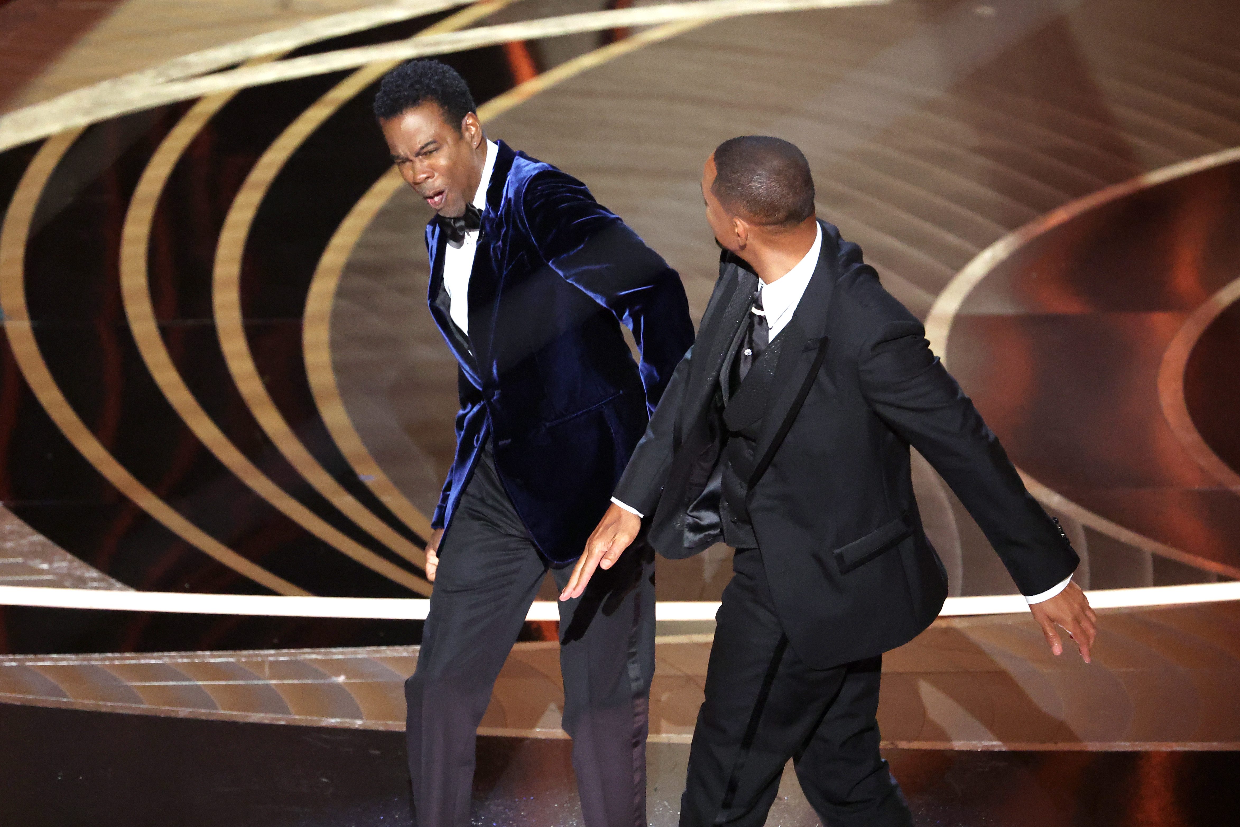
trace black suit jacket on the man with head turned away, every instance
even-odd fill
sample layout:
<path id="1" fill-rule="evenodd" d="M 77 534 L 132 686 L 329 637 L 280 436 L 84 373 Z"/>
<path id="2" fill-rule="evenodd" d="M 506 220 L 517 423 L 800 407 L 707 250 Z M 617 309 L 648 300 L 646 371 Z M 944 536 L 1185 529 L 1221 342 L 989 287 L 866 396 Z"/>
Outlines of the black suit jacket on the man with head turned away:
<path id="1" fill-rule="evenodd" d="M 749 479 L 749 516 L 780 622 L 827 668 L 894 648 L 939 614 L 947 578 L 913 496 L 909 445 L 942 475 L 1027 595 L 1078 557 L 1025 491 L 994 434 L 947 373 L 921 324 L 826 222 L 817 268 L 781 336 Z M 756 286 L 724 254 L 697 342 L 668 383 L 616 497 L 650 517 L 665 557 L 720 539 L 714 402 Z"/>

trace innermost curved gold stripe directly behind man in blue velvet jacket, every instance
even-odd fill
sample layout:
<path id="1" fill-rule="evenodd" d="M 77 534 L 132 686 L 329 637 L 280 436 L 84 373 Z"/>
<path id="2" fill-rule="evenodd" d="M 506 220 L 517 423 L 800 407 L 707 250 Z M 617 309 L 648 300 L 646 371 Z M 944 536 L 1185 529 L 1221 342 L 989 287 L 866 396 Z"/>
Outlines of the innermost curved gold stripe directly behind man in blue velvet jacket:
<path id="1" fill-rule="evenodd" d="M 596 48 L 492 98 L 479 107 L 477 115 L 482 122 L 489 123 L 557 83 L 562 83 L 595 66 L 627 55 L 649 43 L 667 40 L 703 26 L 706 22 L 708 21 L 689 20 L 667 24 Z M 357 429 L 353 428 L 353 422 L 345 408 L 343 398 L 340 396 L 340 386 L 336 383 L 336 372 L 332 368 L 331 360 L 331 312 L 345 264 L 348 262 L 350 255 L 352 255 L 353 248 L 357 245 L 358 239 L 361 239 L 362 233 L 366 232 L 366 228 L 374 219 L 374 216 L 378 214 L 379 210 L 387 205 L 392 195 L 403 185 L 404 181 L 401 179 L 401 174 L 396 169 L 388 170 L 353 205 L 353 208 L 340 223 L 340 227 L 336 228 L 331 241 L 327 242 L 327 248 L 319 259 L 314 279 L 310 283 L 310 293 L 306 296 L 306 309 L 303 319 L 301 342 L 305 351 L 306 377 L 310 379 L 310 392 L 314 394 L 319 415 L 327 427 L 331 438 L 336 441 L 336 446 L 343 454 L 358 479 L 366 482 L 371 491 L 374 492 L 374 496 L 392 513 L 404 521 L 419 536 L 430 537 L 430 521 L 417 506 L 409 502 L 408 497 L 383 472 L 383 469 L 374 461 L 374 458 L 366 448 Z"/>

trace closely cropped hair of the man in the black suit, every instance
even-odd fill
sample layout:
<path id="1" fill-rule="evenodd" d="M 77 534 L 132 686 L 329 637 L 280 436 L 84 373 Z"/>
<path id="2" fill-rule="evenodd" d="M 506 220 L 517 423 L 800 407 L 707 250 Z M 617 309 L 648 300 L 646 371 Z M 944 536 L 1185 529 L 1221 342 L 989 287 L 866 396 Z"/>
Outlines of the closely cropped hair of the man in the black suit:
<path id="1" fill-rule="evenodd" d="M 714 150 L 711 192 L 735 214 L 792 227 L 813 214 L 810 162 L 794 144 L 769 135 L 730 138 Z"/>

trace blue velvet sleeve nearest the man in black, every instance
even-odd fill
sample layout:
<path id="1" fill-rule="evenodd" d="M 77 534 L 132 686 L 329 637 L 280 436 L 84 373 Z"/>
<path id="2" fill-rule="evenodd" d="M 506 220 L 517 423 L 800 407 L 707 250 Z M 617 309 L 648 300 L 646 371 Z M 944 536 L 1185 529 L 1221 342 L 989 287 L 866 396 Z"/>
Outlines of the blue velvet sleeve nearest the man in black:
<path id="1" fill-rule="evenodd" d="M 632 331 L 646 412 L 652 415 L 693 343 L 680 275 L 584 184 L 559 170 L 529 180 L 522 216 L 543 260 Z"/>

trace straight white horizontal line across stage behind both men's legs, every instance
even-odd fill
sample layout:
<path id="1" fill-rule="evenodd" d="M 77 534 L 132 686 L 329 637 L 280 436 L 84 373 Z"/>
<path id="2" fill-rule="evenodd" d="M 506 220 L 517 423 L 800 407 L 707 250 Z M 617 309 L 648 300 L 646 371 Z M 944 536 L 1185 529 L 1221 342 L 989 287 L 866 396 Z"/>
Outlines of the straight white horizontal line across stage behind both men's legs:
<path id="1" fill-rule="evenodd" d="M 1086 591 L 1095 609 L 1132 609 L 1240 600 L 1240 583 L 1194 583 L 1143 589 Z M 283 598 L 253 594 L 184 594 L 179 591 L 110 591 L 103 589 L 45 589 L 2 585 L 0 605 L 107 611 L 160 611 L 191 615 L 246 615 L 269 617 L 356 617 L 366 620 L 425 620 L 430 601 L 396 598 Z M 718 603 L 660 601 L 656 620 L 714 620 Z M 1028 611 L 1018 594 L 947 598 L 940 616 L 1013 615 Z M 537 600 L 526 620 L 559 620 L 559 604 Z"/>

